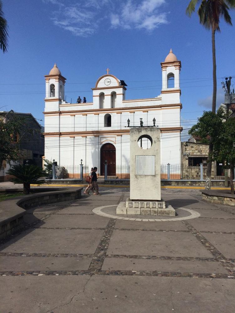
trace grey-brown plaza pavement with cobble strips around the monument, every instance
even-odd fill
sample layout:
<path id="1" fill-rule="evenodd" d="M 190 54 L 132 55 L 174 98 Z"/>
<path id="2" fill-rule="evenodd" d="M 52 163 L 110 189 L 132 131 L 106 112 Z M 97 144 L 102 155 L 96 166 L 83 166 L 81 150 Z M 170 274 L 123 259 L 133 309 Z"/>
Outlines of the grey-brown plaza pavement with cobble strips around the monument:
<path id="1" fill-rule="evenodd" d="M 100 191 L 31 208 L 25 228 L 3 239 L 1 313 L 234 312 L 235 208 L 163 189 L 176 217 L 108 218 L 92 210 L 115 215 L 129 189 Z"/>

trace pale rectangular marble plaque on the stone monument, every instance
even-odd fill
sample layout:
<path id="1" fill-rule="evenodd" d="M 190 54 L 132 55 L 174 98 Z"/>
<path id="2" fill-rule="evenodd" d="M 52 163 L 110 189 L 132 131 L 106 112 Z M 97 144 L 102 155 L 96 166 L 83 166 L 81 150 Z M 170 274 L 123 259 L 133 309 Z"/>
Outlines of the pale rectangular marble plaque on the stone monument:
<path id="1" fill-rule="evenodd" d="M 135 175 L 155 175 L 155 156 L 135 156 Z"/>

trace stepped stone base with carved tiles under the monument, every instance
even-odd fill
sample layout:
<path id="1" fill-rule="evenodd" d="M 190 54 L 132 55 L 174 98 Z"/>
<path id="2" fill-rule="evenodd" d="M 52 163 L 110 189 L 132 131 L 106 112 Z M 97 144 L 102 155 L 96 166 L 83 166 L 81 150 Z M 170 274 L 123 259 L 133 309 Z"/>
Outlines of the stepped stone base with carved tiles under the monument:
<path id="1" fill-rule="evenodd" d="M 175 216 L 175 209 L 163 200 L 133 201 L 127 198 L 126 206 L 123 204 L 118 205 L 116 214 Z"/>

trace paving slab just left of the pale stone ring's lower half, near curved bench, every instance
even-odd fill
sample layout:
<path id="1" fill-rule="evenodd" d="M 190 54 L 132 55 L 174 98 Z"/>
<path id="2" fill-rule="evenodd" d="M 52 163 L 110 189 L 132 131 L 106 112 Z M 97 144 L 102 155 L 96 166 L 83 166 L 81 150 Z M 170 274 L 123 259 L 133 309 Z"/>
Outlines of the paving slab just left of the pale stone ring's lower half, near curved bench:
<path id="1" fill-rule="evenodd" d="M 99 215 L 52 215 L 44 220 L 42 227 L 81 227 L 81 228 L 105 228 L 109 218 Z"/>

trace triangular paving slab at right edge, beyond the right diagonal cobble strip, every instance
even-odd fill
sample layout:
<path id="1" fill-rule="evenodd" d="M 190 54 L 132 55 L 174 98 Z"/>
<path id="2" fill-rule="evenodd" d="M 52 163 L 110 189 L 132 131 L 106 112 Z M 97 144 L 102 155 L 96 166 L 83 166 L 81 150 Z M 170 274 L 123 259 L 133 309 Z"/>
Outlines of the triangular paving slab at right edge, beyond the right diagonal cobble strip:
<path id="1" fill-rule="evenodd" d="M 210 241 L 226 258 L 235 259 L 235 235 L 203 233 L 202 235 Z"/>

